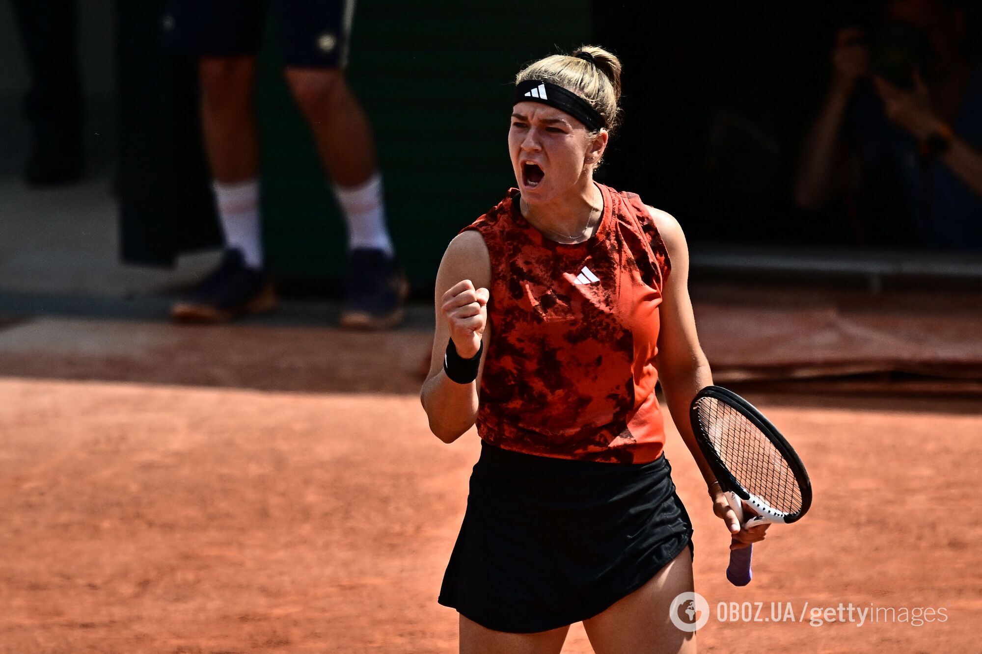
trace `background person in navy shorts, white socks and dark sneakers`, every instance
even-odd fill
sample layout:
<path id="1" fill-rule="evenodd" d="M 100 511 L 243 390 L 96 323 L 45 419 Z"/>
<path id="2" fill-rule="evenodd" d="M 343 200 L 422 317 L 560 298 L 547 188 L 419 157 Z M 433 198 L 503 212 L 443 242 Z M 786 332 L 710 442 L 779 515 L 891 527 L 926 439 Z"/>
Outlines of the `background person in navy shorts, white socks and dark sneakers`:
<path id="1" fill-rule="evenodd" d="M 402 319 L 407 282 L 386 227 L 371 128 L 345 80 L 354 0 L 271 0 L 287 82 L 310 125 L 348 223 L 351 252 L 342 325 L 385 328 Z M 199 58 L 201 122 L 226 250 L 221 265 L 172 309 L 218 322 L 271 309 L 259 213 L 254 108 L 264 0 L 171 0 L 172 47 Z"/>

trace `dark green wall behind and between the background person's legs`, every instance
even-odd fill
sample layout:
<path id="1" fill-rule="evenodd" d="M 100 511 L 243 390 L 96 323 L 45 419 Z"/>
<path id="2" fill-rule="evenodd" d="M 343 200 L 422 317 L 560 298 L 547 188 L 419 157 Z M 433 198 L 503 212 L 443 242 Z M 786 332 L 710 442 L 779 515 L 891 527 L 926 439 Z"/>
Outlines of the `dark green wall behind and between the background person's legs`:
<path id="1" fill-rule="evenodd" d="M 454 235 L 514 186 L 511 84 L 538 57 L 588 42 L 586 0 L 358 2 L 349 80 L 372 122 L 389 224 L 417 291 Z M 267 32 L 258 109 L 267 258 L 287 283 L 331 288 L 347 233 Z"/>

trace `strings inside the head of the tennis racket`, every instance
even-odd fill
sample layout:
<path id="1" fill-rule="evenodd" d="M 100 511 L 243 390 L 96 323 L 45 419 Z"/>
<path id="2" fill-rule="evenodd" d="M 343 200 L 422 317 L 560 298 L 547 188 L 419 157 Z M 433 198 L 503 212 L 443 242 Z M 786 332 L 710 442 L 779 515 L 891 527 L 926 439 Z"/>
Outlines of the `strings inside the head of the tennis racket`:
<path id="1" fill-rule="evenodd" d="M 710 444 L 736 482 L 785 515 L 801 510 L 801 489 L 791 465 L 771 440 L 745 415 L 706 397 L 697 404 Z"/>

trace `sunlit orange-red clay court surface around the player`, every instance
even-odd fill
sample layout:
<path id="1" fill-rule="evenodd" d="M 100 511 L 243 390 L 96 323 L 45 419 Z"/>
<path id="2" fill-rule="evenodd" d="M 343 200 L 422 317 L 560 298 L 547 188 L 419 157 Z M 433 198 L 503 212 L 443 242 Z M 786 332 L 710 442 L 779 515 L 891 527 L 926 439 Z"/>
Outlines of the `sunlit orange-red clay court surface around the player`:
<path id="1" fill-rule="evenodd" d="M 982 401 L 750 399 L 793 438 L 815 504 L 733 588 L 672 437 L 714 609 L 700 649 L 978 651 Z M 0 439 L 0 652 L 456 651 L 436 594 L 478 443 L 439 443 L 414 397 L 7 378 Z M 716 621 L 744 600 L 948 620 Z M 564 651 L 591 651 L 581 627 Z"/>

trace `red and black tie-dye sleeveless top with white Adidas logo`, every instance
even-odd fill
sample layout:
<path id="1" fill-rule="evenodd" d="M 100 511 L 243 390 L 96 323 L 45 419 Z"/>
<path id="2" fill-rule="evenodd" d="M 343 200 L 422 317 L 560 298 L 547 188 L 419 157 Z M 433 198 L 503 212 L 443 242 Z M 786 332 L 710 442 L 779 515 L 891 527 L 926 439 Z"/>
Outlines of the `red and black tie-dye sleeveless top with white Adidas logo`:
<path id="1" fill-rule="evenodd" d="M 648 463 L 665 444 L 654 358 L 671 264 L 640 198 L 597 186 L 603 216 L 581 244 L 532 227 L 517 189 L 464 228 L 491 256 L 477 433 L 543 457 Z"/>

